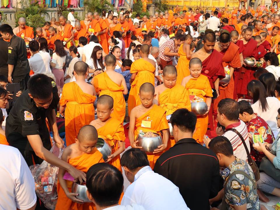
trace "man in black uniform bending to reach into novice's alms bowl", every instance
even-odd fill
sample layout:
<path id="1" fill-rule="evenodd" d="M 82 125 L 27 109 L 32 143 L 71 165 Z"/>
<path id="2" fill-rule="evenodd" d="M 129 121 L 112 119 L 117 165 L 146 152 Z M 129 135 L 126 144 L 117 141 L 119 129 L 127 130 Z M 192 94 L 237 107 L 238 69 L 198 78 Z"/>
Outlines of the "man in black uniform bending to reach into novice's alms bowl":
<path id="1" fill-rule="evenodd" d="M 83 182 L 85 173 L 49 151 L 51 145 L 46 117 L 53 131 L 53 140 L 63 146 L 54 110 L 59 102 L 55 82 L 45 74 L 36 74 L 29 79 L 27 86 L 28 89 L 17 99 L 6 119 L 7 141 L 10 146 L 20 150 L 28 166 L 33 165 L 32 157 L 36 164 L 46 160 L 67 170 L 76 181 Z"/>

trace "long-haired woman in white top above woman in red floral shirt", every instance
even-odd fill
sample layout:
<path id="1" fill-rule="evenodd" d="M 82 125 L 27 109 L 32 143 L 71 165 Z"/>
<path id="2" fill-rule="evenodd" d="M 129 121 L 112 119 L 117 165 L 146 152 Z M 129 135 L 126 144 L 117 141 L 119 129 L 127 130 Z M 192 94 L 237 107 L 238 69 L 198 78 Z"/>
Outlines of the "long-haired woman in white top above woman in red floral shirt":
<path id="1" fill-rule="evenodd" d="M 280 107 L 280 101 L 275 97 L 268 97 L 265 86 L 257 80 L 252 80 L 247 85 L 248 95 L 253 98 L 252 108 L 254 113 L 260 115 L 271 128 L 274 136 L 277 136 L 279 129 L 275 116 Z"/>

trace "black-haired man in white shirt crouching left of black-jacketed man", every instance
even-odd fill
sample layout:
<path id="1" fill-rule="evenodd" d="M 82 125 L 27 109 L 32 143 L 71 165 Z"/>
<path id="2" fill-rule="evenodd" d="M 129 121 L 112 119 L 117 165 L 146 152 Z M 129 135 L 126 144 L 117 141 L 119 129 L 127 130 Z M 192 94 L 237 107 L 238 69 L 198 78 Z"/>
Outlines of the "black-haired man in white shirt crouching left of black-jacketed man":
<path id="1" fill-rule="evenodd" d="M 122 197 L 122 205 L 139 204 L 149 210 L 189 210 L 179 188 L 151 169 L 145 152 L 131 148 L 123 153 L 120 164 L 132 183 Z"/>

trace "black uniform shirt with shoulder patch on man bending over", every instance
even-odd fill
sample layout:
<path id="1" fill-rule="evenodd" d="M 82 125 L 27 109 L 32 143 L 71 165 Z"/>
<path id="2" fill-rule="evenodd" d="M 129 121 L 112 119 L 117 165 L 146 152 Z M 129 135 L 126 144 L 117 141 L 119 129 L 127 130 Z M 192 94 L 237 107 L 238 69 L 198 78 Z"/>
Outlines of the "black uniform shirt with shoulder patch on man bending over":
<path id="1" fill-rule="evenodd" d="M 6 119 L 5 134 L 10 146 L 33 151 L 27 135 L 40 135 L 43 146 L 50 150 L 50 134 L 46 125 L 46 117 L 52 109 L 57 108 L 59 102 L 54 81 L 52 85 L 53 101 L 47 109 L 36 106 L 28 95 L 28 89 L 17 99 Z"/>

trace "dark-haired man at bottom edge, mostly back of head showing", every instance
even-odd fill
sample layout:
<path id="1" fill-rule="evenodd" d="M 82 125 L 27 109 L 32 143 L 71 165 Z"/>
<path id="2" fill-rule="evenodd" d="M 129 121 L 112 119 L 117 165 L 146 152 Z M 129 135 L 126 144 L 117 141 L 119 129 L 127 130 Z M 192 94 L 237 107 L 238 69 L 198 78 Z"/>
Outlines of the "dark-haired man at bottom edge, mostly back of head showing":
<path id="1" fill-rule="evenodd" d="M 87 196 L 97 210 L 145 210 L 137 204 L 118 204 L 123 192 L 123 176 L 116 167 L 108 163 L 97 163 L 88 169 L 86 186 Z"/>

